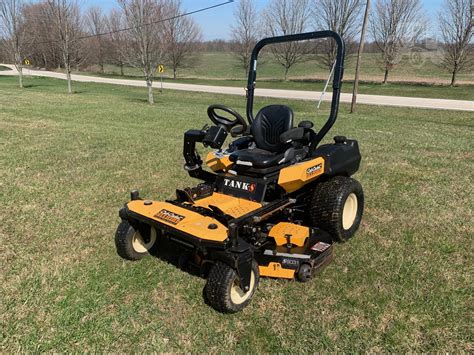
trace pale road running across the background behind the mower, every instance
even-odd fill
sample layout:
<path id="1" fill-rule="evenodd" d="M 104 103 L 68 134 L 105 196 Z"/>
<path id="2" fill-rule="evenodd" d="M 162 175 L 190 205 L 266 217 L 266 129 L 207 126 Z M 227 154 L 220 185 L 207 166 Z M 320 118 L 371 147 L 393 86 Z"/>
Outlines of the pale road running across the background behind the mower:
<path id="1" fill-rule="evenodd" d="M 17 71 L 13 65 L 0 64 L 11 68 L 11 71 L 0 71 L 0 75 L 17 75 Z M 25 75 L 45 76 L 50 78 L 66 79 L 65 74 L 44 70 L 24 69 Z M 127 86 L 146 86 L 145 81 L 130 80 L 130 79 L 111 79 L 87 75 L 72 75 L 72 80 L 81 82 L 104 83 L 114 85 Z M 153 87 L 159 87 L 160 83 L 153 83 Z M 164 89 L 207 92 L 215 94 L 228 95 L 245 95 L 245 90 L 238 87 L 229 86 L 210 86 L 210 85 L 195 85 L 195 84 L 178 84 L 178 83 L 163 83 Z M 302 91 L 302 90 L 277 90 L 277 89 L 261 89 L 255 90 L 255 96 L 274 97 L 284 99 L 296 100 L 311 100 L 318 101 L 321 92 L 319 91 Z M 332 95 L 330 92 L 326 93 L 323 101 L 331 101 Z M 350 103 L 352 99 L 351 94 L 341 94 L 341 102 Z M 445 100 L 445 99 L 427 99 L 421 97 L 401 97 L 401 96 L 383 96 L 383 95 L 357 95 L 357 103 L 365 105 L 380 105 L 380 106 L 397 106 L 397 107 L 415 107 L 427 108 L 437 110 L 460 110 L 460 111 L 474 111 L 474 101 L 469 100 Z"/>

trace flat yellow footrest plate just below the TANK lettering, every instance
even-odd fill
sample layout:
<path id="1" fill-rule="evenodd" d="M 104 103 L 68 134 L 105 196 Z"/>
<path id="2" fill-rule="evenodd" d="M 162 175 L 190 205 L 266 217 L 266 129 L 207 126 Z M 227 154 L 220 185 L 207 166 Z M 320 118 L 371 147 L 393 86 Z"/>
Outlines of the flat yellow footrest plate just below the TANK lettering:
<path id="1" fill-rule="evenodd" d="M 194 202 L 196 206 L 209 208 L 219 207 L 224 213 L 238 218 L 262 207 L 262 204 L 243 198 L 214 192 L 211 196 L 204 197 Z"/>

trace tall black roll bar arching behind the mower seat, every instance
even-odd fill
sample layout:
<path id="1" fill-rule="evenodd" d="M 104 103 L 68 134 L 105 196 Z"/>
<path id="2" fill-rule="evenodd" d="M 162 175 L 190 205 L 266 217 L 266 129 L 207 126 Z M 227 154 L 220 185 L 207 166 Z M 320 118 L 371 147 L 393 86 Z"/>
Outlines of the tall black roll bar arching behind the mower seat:
<path id="1" fill-rule="evenodd" d="M 336 66 L 334 68 L 334 78 L 333 78 L 333 93 L 332 93 L 332 102 L 331 102 L 331 112 L 329 118 L 320 131 L 314 136 L 311 141 L 310 151 L 312 152 L 316 146 L 321 142 L 324 136 L 336 122 L 337 112 L 339 110 L 339 98 L 341 94 L 341 82 L 342 76 L 344 73 L 344 41 L 339 34 L 334 31 L 317 31 L 317 32 L 307 32 L 299 33 L 294 35 L 278 36 L 278 37 L 268 37 L 264 38 L 261 41 L 257 42 L 255 45 L 252 56 L 250 57 L 250 66 L 249 66 L 249 77 L 247 82 L 247 120 L 251 125 L 254 121 L 253 116 L 253 97 L 255 92 L 255 83 L 257 80 L 257 58 L 261 49 L 268 44 L 283 43 L 283 42 L 296 42 L 296 41 L 305 41 L 310 39 L 319 39 L 319 38 L 333 38 L 337 44 L 337 53 L 336 53 Z"/>

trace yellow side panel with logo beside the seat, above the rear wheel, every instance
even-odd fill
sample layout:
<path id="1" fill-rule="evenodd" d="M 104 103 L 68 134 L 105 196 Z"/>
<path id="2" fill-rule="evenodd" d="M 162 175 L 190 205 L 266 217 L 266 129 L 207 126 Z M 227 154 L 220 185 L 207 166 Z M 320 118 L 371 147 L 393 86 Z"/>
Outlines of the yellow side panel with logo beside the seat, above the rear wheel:
<path id="1" fill-rule="evenodd" d="M 296 191 L 324 173 L 324 158 L 317 157 L 283 168 L 278 177 L 278 185 L 286 192 Z"/>

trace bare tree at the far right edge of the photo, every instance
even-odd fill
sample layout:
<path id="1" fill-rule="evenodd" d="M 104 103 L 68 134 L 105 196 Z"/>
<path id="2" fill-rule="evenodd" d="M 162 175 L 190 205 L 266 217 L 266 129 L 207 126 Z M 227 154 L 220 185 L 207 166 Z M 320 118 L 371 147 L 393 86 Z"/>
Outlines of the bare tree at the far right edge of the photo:
<path id="1" fill-rule="evenodd" d="M 445 0 L 439 12 L 439 27 L 444 42 L 442 66 L 451 76 L 451 86 L 456 85 L 456 75 L 471 69 L 474 63 L 472 40 L 473 7 L 470 0 Z"/>

